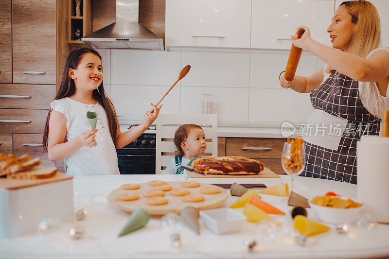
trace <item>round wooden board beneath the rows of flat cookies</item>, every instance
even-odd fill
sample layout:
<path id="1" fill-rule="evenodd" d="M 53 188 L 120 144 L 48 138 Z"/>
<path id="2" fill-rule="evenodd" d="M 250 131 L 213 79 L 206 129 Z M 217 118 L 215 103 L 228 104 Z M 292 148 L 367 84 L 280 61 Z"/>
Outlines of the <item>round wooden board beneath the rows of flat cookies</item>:
<path id="1" fill-rule="evenodd" d="M 167 184 L 171 185 L 173 189 L 183 188 L 181 187 L 181 183 L 183 182 L 167 182 Z M 142 207 L 146 209 L 150 213 L 150 215 L 165 215 L 166 213 L 169 212 L 179 213 L 181 209 L 188 206 L 195 207 L 197 210 L 221 207 L 229 197 L 229 193 L 223 188 L 215 185 L 201 183 L 199 187 L 183 188 L 183 189 L 189 190 L 191 194 L 199 194 L 204 196 L 204 201 L 202 202 L 185 202 L 182 201 L 183 196 L 170 195 L 169 191 L 165 191 L 164 197 L 168 199 L 168 203 L 165 205 L 153 206 L 153 205 L 148 205 L 146 203 L 147 198 L 143 196 L 143 193 L 147 190 L 153 190 L 154 187 L 149 186 L 147 183 L 140 183 L 139 185 L 141 186 L 141 188 L 138 190 L 122 190 L 118 188 L 111 191 L 107 197 L 109 203 L 126 212 L 132 212 L 136 208 Z M 203 189 L 204 187 L 211 187 L 211 186 L 220 189 L 220 193 L 216 193 L 216 194 L 200 193 L 200 190 Z M 139 199 L 135 201 L 117 200 L 116 197 L 122 193 L 132 193 L 132 194 L 136 193 L 139 195 Z"/>

